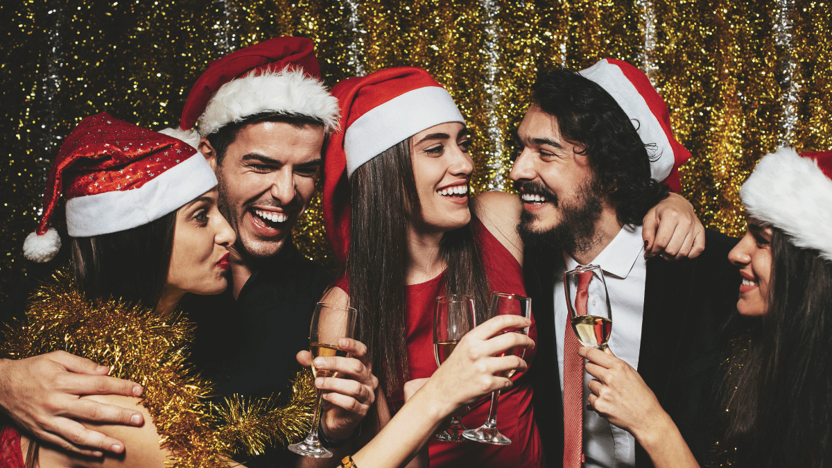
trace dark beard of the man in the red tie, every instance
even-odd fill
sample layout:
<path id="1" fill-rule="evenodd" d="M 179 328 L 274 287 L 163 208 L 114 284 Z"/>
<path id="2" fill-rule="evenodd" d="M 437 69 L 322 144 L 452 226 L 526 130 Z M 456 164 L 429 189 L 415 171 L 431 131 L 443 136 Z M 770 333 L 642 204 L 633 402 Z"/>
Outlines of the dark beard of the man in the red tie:
<path id="1" fill-rule="evenodd" d="M 547 189 L 530 192 L 550 192 Z M 550 192 L 551 193 L 551 192 Z M 554 195 L 554 194 L 552 194 Z M 523 245 L 536 248 L 560 249 L 568 252 L 587 251 L 596 244 L 595 223 L 601 217 L 602 199 L 594 181 L 584 183 L 577 192 L 574 203 L 552 198 L 556 207 L 560 207 L 561 221 L 547 231 L 535 231 L 532 222 L 537 220 L 526 210 L 520 213 L 517 231 Z"/>

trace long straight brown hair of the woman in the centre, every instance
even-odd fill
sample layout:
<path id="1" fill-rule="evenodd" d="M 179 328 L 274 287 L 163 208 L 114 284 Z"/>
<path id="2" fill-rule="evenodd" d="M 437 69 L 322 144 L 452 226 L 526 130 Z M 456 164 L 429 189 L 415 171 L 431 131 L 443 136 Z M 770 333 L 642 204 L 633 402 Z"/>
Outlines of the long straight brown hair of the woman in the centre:
<path id="1" fill-rule="evenodd" d="M 390 395 L 409 380 L 404 325 L 407 227 L 422 223 L 410 139 L 356 169 L 350 181 L 347 278 L 350 305 L 358 309 L 358 339 L 367 345 L 379 386 Z M 488 277 L 472 222 L 440 241 L 448 294 L 474 297 L 477 321 L 488 306 Z"/>

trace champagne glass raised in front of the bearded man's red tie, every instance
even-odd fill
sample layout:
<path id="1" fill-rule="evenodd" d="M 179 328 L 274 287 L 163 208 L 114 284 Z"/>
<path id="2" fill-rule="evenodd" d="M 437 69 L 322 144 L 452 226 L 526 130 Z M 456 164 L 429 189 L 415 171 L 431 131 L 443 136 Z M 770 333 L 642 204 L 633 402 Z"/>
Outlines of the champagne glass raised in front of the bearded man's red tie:
<path id="1" fill-rule="evenodd" d="M 583 265 L 563 273 L 569 322 L 583 346 L 603 351 L 612 332 L 612 310 L 601 266 Z"/>

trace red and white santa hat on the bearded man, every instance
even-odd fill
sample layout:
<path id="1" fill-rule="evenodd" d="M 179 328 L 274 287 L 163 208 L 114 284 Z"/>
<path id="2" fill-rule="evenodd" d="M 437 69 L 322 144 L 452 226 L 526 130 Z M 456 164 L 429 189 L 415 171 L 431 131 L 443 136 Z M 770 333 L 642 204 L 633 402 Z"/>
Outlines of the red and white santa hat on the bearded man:
<path id="1" fill-rule="evenodd" d="M 651 177 L 679 192 L 678 169 L 691 158 L 691 152 L 673 137 L 667 104 L 650 79 L 638 68 L 614 58 L 605 58 L 578 73 L 610 93 L 627 117 L 635 121 L 642 142 L 656 145 L 651 154 Z"/>

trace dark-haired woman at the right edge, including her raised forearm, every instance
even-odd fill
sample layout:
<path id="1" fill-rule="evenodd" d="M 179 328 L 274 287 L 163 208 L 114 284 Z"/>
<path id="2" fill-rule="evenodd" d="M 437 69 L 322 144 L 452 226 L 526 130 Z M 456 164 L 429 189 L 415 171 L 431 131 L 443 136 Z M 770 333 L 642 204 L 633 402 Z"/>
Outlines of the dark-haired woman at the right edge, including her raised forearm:
<path id="1" fill-rule="evenodd" d="M 733 466 L 832 464 L 830 178 L 832 152 L 781 148 L 740 192 L 747 231 L 729 259 L 743 278 L 735 321 L 749 331 L 732 340 L 715 450 Z M 581 354 L 597 379 L 596 411 L 631 431 L 655 466 L 698 466 L 636 371 L 592 348 Z"/>

